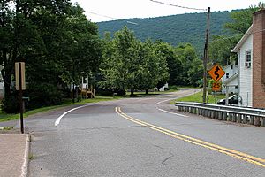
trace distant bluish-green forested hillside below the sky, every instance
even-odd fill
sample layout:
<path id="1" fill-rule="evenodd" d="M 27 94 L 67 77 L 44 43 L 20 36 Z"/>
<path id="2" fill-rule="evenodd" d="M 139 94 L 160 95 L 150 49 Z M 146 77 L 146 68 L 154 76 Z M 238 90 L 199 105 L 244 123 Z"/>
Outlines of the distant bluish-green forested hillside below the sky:
<path id="1" fill-rule="evenodd" d="M 222 35 L 225 33 L 222 27 L 224 23 L 231 21 L 230 13 L 211 13 L 211 35 Z M 98 26 L 100 35 L 103 35 L 107 31 L 113 35 L 114 32 L 127 26 L 142 41 L 150 38 L 153 41 L 162 40 L 172 45 L 190 42 L 197 51 L 200 51 L 198 54 L 201 55 L 205 40 L 206 16 L 206 13 L 186 13 L 147 19 L 120 19 L 100 22 Z M 138 25 L 128 23 L 128 20 Z"/>

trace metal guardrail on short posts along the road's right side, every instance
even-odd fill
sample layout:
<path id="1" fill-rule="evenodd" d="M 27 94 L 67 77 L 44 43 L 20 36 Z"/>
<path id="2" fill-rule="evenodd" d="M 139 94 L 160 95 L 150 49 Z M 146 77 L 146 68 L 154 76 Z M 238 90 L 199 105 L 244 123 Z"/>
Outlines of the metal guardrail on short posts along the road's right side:
<path id="1" fill-rule="evenodd" d="M 176 106 L 179 112 L 189 112 L 211 119 L 265 127 L 265 110 L 261 109 L 192 102 L 176 102 Z"/>

